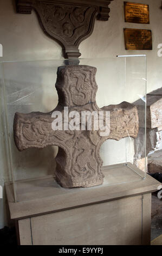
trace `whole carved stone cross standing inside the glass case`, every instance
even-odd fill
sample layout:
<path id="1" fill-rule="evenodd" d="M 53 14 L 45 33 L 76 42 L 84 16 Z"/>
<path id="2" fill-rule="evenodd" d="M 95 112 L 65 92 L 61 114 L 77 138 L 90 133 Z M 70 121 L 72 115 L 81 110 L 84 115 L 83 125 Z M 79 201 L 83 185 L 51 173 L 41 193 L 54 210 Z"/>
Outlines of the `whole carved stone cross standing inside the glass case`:
<path id="1" fill-rule="evenodd" d="M 139 130 L 137 107 L 128 102 L 99 108 L 95 96 L 96 68 L 86 65 L 61 66 L 57 70 L 56 89 L 59 95 L 57 107 L 49 113 L 15 113 L 14 139 L 18 150 L 42 149 L 57 145 L 56 181 L 62 187 L 91 187 L 103 183 L 100 148 L 107 139 L 119 141 L 125 137 L 136 138 Z M 110 112 L 110 132 L 101 136 L 101 130 L 53 130 L 54 111 L 64 117 L 68 112 Z M 105 120 L 105 119 L 104 119 Z M 69 120 L 68 120 L 69 121 Z"/>

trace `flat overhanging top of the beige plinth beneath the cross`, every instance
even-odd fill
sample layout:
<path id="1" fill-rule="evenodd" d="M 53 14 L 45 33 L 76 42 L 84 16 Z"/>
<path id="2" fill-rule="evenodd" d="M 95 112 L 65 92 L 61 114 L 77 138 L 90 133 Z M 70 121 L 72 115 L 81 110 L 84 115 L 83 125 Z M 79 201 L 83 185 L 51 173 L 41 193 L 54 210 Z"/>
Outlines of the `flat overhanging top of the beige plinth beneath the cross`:
<path id="1" fill-rule="evenodd" d="M 62 188 L 52 177 L 23 180 L 5 184 L 11 219 L 49 214 L 81 206 L 137 196 L 160 190 L 160 182 L 134 167 L 131 163 L 103 167 L 104 182 L 89 188 Z"/>

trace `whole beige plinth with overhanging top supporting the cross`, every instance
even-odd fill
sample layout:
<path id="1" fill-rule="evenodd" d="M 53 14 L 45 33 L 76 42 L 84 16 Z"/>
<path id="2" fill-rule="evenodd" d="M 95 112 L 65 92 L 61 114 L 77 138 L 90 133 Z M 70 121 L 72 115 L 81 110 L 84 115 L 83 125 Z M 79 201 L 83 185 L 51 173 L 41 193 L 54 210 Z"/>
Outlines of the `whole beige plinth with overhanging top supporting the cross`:
<path id="1" fill-rule="evenodd" d="M 5 184 L 20 245 L 150 245 L 151 192 L 161 184 L 135 172 L 103 167 L 103 185 L 90 188 L 62 188 L 54 178 L 19 181 L 17 203 Z"/>

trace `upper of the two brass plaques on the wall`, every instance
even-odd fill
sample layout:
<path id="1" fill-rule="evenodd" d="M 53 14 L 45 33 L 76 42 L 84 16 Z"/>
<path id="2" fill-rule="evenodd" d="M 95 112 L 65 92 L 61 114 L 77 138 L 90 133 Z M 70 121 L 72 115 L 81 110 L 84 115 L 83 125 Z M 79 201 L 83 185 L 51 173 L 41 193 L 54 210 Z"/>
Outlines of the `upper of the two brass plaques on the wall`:
<path id="1" fill-rule="evenodd" d="M 149 5 L 124 2 L 125 22 L 149 24 Z"/>

